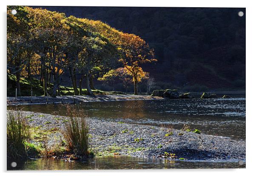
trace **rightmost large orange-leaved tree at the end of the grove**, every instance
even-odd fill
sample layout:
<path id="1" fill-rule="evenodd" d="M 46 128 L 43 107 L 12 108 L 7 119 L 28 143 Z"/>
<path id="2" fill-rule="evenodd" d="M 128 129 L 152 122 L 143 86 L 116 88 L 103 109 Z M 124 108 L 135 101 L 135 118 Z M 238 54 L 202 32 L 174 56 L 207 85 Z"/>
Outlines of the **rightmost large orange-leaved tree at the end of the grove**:
<path id="1" fill-rule="evenodd" d="M 122 45 L 119 50 L 122 51 L 122 55 L 119 61 L 122 62 L 128 74 L 133 77 L 134 94 L 137 95 L 138 82 L 145 77 L 145 72 L 141 65 L 156 61 L 154 59 L 154 50 L 150 49 L 142 38 L 134 34 L 122 33 L 120 40 Z"/>

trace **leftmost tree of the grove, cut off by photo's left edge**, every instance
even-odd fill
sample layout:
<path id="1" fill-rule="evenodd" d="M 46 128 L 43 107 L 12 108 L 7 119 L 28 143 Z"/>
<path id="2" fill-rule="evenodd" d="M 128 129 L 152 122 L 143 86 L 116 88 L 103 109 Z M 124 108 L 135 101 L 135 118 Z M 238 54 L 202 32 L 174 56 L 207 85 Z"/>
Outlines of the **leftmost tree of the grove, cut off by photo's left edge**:
<path id="1" fill-rule="evenodd" d="M 11 14 L 12 9 L 17 9 L 17 14 Z M 23 6 L 7 7 L 7 70 L 16 75 L 17 96 L 20 96 L 20 74 L 33 47 L 27 14 Z"/>

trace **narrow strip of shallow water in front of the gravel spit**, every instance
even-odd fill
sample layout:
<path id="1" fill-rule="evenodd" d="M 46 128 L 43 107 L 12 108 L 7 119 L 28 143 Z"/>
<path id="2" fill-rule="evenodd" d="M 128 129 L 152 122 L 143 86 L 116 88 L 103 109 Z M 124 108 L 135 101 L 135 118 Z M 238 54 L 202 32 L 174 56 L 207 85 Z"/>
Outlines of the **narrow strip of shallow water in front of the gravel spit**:
<path id="1" fill-rule="evenodd" d="M 238 161 L 202 162 L 169 159 L 143 159 L 133 157 L 99 157 L 83 162 L 59 159 L 29 159 L 18 161 L 16 168 L 8 170 L 84 170 L 84 169 L 172 169 L 172 168 L 245 168 Z"/>

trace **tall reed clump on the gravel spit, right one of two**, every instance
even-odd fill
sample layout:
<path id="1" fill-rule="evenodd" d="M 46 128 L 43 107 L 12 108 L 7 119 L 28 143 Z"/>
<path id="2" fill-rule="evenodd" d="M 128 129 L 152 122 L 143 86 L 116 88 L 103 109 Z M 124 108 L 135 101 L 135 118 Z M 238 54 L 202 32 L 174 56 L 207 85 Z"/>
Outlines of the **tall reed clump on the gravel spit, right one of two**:
<path id="1" fill-rule="evenodd" d="M 67 121 L 62 131 L 68 150 L 74 154 L 88 156 L 88 123 L 82 110 L 67 106 Z"/>

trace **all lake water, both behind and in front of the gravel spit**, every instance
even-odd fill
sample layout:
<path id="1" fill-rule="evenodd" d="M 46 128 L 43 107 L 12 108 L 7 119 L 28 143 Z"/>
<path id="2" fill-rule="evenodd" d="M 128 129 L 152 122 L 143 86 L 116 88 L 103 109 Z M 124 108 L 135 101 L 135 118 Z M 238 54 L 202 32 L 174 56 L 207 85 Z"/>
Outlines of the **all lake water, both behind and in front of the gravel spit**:
<path id="1" fill-rule="evenodd" d="M 119 102 L 88 102 L 78 104 L 88 118 L 148 125 L 184 124 L 208 135 L 245 140 L 245 98 L 233 99 L 164 99 Z M 8 107 L 12 108 L 12 107 Z M 21 105 L 25 111 L 66 115 L 61 104 Z M 22 170 L 45 169 L 151 169 L 151 168 L 240 168 L 238 161 L 173 161 L 167 159 L 142 159 L 132 157 L 100 157 L 85 162 L 65 162 L 57 159 L 23 161 Z"/>

